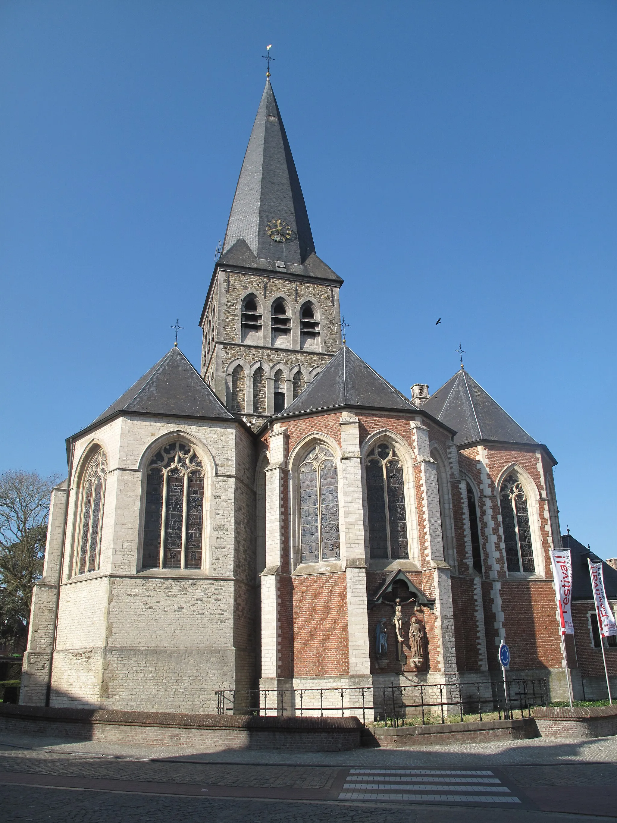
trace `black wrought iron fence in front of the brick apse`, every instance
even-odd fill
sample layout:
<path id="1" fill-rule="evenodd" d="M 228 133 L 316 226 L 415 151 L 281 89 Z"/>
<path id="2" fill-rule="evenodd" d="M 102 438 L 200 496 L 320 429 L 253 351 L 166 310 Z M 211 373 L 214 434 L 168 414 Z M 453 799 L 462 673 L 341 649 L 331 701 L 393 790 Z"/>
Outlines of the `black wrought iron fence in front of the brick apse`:
<path id="1" fill-rule="evenodd" d="M 483 715 L 508 719 L 521 713 L 531 717 L 534 706 L 548 700 L 545 679 L 477 681 L 472 683 L 418 683 L 406 686 L 309 689 L 222 689 L 216 692 L 218 714 L 254 714 L 262 717 L 351 717 L 367 723 L 378 720 L 400 726 L 406 722 L 461 723 L 469 718 L 480 722 Z"/>

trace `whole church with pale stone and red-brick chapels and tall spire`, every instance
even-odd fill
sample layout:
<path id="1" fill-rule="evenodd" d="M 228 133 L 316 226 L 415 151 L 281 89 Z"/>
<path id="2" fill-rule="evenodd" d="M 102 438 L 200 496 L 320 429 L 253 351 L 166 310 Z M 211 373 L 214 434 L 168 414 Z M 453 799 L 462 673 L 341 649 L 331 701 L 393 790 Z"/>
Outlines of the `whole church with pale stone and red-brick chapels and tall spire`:
<path id="1" fill-rule="evenodd" d="M 389 384 L 341 340 L 342 286 L 268 77 L 198 370 L 174 346 L 67 439 L 22 703 L 489 684 L 502 641 L 565 697 L 553 455 L 463 367 Z"/>

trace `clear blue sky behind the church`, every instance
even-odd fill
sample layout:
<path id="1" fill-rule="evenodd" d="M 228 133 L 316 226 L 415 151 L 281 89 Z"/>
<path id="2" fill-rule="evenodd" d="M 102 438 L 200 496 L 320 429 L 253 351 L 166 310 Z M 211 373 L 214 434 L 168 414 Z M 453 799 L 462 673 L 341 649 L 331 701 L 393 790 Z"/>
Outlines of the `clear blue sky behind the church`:
<path id="1" fill-rule="evenodd" d="M 462 342 L 617 555 L 613 0 L 2 0 L 0 468 L 62 472 L 176 317 L 198 364 L 269 43 L 350 346 L 408 392 Z"/>

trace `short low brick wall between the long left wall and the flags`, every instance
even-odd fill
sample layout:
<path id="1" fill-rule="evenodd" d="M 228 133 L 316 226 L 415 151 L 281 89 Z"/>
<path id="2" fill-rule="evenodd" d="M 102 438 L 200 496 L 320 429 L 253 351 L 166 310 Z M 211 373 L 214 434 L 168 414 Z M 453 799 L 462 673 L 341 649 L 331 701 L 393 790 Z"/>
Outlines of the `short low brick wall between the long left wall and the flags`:
<path id="1" fill-rule="evenodd" d="M 366 729 L 363 746 L 412 748 L 449 746 L 452 743 L 486 743 L 491 740 L 526 740 L 540 737 L 534 718 L 484 720 L 482 723 L 430 723 L 428 726 L 374 727 Z"/>

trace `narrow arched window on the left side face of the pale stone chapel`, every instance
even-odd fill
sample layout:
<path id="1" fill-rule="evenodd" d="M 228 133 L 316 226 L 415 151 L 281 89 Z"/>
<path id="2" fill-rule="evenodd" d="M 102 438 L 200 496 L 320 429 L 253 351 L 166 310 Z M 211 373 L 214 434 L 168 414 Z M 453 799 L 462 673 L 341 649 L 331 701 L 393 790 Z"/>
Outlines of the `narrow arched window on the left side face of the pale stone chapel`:
<path id="1" fill-rule="evenodd" d="M 106 479 L 107 455 L 99 447 L 88 461 L 81 486 L 77 574 L 84 574 L 86 571 L 95 571 L 99 568 Z"/>

